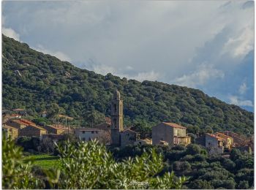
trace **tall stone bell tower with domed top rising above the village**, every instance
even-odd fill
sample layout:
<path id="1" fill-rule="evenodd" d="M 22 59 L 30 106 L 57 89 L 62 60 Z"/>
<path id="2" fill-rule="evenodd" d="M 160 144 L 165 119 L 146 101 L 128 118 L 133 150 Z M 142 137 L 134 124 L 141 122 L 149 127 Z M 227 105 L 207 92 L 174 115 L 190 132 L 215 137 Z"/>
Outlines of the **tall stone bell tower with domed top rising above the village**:
<path id="1" fill-rule="evenodd" d="M 123 131 L 123 100 L 120 92 L 114 91 L 111 102 L 111 144 L 120 145 L 120 132 Z"/>

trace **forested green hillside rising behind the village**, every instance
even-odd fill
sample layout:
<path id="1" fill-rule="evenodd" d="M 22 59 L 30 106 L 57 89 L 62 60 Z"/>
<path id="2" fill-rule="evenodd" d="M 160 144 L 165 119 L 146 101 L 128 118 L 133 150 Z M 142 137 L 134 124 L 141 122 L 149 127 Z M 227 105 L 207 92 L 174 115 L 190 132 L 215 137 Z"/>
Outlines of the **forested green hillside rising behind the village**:
<path id="1" fill-rule="evenodd" d="M 202 91 L 159 82 L 106 76 L 39 53 L 3 36 L 3 107 L 25 108 L 31 115 L 60 107 L 61 113 L 89 125 L 89 115 L 110 115 L 113 90 L 124 99 L 124 125 L 171 121 L 190 129 L 231 130 L 253 134 L 253 113 Z M 94 113 L 94 114 L 89 114 Z M 95 116 L 96 115 L 96 116 Z"/>

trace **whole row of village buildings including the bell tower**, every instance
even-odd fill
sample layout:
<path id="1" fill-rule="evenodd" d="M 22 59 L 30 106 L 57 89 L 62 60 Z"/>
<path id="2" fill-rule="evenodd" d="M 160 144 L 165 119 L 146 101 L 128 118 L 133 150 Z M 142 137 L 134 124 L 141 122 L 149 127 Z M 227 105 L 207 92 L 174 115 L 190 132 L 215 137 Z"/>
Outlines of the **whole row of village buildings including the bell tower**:
<path id="1" fill-rule="evenodd" d="M 140 139 L 140 134 L 132 127 L 124 129 L 123 100 L 119 91 L 113 94 L 111 101 L 111 118 L 106 117 L 105 122 L 99 123 L 94 128 L 72 128 L 60 124 L 37 126 L 32 121 L 23 119 L 26 115 L 23 109 L 16 109 L 15 114 L 10 114 L 3 119 L 2 131 L 13 140 L 22 136 L 36 136 L 42 138 L 61 139 L 64 134 L 74 134 L 78 140 L 99 140 L 106 145 L 124 147 L 126 145 L 184 145 L 191 143 L 187 128 L 177 123 L 162 122 L 152 127 L 151 139 Z M 45 116 L 46 112 L 42 113 Z M 62 115 L 65 117 L 64 115 Z M 71 119 L 71 118 L 69 118 Z M 241 151 L 252 153 L 253 140 L 246 140 L 234 132 L 216 132 L 203 134 L 195 139 L 195 143 L 203 145 L 210 154 L 221 154 L 238 148 Z"/>

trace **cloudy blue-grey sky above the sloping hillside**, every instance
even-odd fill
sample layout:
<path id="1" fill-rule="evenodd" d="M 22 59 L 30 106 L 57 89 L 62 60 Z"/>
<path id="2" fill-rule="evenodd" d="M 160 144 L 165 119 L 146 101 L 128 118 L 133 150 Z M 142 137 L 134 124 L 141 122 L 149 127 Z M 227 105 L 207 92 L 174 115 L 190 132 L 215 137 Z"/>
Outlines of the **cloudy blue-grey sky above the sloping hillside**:
<path id="1" fill-rule="evenodd" d="M 82 69 L 253 111 L 253 1 L 3 1 L 2 33 Z"/>

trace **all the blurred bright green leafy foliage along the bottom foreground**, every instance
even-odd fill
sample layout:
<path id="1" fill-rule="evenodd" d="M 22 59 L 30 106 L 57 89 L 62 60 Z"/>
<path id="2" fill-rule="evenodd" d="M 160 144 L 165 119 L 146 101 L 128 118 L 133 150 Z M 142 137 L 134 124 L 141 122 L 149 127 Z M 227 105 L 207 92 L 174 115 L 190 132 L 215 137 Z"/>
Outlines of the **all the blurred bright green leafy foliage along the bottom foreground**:
<path id="1" fill-rule="evenodd" d="M 3 139 L 4 189 L 181 189 L 186 178 L 162 172 L 161 154 L 154 149 L 133 159 L 115 161 L 99 142 L 59 145 L 58 167 L 32 172 L 21 148 Z M 39 175 L 40 174 L 40 175 Z"/>

